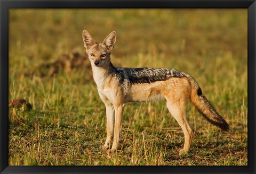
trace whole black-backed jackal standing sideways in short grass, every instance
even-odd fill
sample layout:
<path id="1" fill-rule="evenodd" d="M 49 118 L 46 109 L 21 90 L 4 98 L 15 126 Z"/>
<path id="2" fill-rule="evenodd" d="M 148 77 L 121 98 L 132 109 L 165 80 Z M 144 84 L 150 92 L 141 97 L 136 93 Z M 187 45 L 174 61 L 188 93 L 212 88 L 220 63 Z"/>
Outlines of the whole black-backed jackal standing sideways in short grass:
<path id="1" fill-rule="evenodd" d="M 109 33 L 102 43 L 97 43 L 84 30 L 83 41 L 91 62 L 93 79 L 106 106 L 106 149 L 110 148 L 111 138 L 114 138 L 111 151 L 118 149 L 125 102 L 166 100 L 167 108 L 185 135 L 185 144 L 180 153 L 190 149 L 193 137 L 193 128 L 185 114 L 188 99 L 210 123 L 228 131 L 227 122 L 207 101 L 190 75 L 166 68 L 115 67 L 110 62 L 110 51 L 116 41 L 115 31 Z"/>

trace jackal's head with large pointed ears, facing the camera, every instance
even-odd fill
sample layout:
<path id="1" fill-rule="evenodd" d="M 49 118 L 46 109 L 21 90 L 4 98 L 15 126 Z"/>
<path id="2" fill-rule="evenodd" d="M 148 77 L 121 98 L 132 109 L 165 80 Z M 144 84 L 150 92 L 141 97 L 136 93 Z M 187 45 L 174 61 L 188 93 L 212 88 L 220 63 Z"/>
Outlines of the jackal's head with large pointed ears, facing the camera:
<path id="1" fill-rule="evenodd" d="M 97 43 L 92 35 L 87 30 L 84 30 L 83 40 L 86 53 L 89 56 L 92 66 L 103 67 L 109 64 L 110 52 L 116 42 L 115 31 L 109 33 L 102 43 Z"/>

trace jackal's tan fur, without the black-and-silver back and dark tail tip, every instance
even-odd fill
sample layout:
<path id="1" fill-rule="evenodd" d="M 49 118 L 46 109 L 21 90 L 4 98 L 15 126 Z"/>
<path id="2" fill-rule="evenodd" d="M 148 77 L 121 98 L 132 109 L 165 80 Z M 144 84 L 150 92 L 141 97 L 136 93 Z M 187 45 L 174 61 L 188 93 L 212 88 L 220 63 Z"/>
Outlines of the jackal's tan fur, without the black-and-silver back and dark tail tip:
<path id="1" fill-rule="evenodd" d="M 199 87 L 190 76 L 170 77 L 164 81 L 130 84 L 130 86 L 120 85 L 118 80 L 108 73 L 109 55 L 116 41 L 115 31 L 108 34 L 102 44 L 96 44 L 91 34 L 84 30 L 83 40 L 92 65 L 94 81 L 97 84 L 100 98 L 106 106 L 107 138 L 104 144 L 106 149 L 110 148 L 111 138 L 114 138 L 111 151 L 118 149 L 125 102 L 165 99 L 168 110 L 177 120 L 185 135 L 185 144 L 180 153 L 187 152 L 190 149 L 193 137 L 193 128 L 186 118 L 186 106 L 189 99 L 197 108 L 201 109 L 203 114 L 212 115 L 212 118 L 216 119 L 217 122 L 219 121 L 214 116 L 214 109 L 202 97 L 203 95 L 198 96 L 197 90 Z"/>

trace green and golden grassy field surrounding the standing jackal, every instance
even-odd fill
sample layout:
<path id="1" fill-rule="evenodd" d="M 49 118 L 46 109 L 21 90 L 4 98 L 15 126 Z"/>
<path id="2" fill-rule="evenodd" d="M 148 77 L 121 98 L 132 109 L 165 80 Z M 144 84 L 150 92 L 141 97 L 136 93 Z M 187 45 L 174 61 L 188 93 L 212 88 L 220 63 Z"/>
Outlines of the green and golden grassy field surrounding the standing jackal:
<path id="1" fill-rule="evenodd" d="M 247 10 L 10 10 L 9 165 L 247 165 Z M 105 105 L 83 47 L 111 31 L 114 65 L 192 75 L 227 120 L 210 125 L 189 104 L 191 151 L 165 102 L 127 103 L 121 150 L 100 149 Z"/>

